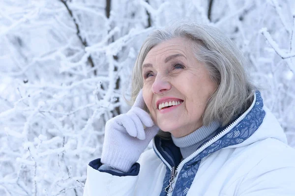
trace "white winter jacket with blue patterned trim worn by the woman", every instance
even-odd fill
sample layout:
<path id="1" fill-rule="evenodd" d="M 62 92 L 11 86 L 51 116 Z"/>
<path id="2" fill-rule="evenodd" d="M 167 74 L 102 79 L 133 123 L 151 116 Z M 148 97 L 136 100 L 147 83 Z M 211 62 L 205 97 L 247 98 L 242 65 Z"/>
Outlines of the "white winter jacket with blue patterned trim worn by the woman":
<path id="1" fill-rule="evenodd" d="M 91 161 L 84 196 L 295 196 L 295 150 L 260 92 L 246 112 L 180 161 L 172 140 L 155 137 L 128 173 L 99 171 L 100 159 Z"/>

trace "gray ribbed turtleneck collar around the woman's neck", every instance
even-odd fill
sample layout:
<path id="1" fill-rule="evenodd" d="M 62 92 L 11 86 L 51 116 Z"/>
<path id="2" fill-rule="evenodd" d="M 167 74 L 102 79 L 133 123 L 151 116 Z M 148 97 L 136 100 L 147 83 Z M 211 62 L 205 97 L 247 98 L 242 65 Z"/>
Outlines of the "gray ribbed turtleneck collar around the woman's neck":
<path id="1" fill-rule="evenodd" d="M 195 152 L 203 142 L 212 138 L 220 125 L 221 123 L 219 122 L 212 122 L 208 126 L 202 126 L 187 136 L 175 138 L 171 135 L 171 137 L 174 144 L 180 148 L 181 155 L 185 159 Z"/>

